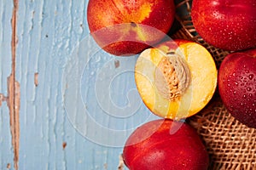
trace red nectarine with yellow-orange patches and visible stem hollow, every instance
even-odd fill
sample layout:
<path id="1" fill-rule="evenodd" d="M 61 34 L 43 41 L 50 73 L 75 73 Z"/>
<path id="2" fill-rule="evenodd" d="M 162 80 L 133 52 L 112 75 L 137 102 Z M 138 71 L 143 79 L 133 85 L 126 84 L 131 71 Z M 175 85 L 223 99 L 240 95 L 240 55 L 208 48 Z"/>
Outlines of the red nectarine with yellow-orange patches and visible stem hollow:
<path id="1" fill-rule="evenodd" d="M 137 54 L 159 42 L 170 30 L 174 15 L 173 0 L 90 0 L 87 9 L 92 36 L 115 55 Z"/>

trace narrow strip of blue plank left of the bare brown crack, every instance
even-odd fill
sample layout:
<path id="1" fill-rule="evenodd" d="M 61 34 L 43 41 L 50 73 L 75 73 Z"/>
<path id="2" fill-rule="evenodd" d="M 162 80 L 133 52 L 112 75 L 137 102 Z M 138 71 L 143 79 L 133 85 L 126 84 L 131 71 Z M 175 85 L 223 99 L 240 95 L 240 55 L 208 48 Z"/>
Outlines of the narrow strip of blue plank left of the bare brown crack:
<path id="1" fill-rule="evenodd" d="M 0 3 L 0 168 L 6 169 L 13 165 L 12 138 L 10 135 L 10 119 L 8 107 L 8 77 L 12 72 L 12 19 L 13 3 Z"/>

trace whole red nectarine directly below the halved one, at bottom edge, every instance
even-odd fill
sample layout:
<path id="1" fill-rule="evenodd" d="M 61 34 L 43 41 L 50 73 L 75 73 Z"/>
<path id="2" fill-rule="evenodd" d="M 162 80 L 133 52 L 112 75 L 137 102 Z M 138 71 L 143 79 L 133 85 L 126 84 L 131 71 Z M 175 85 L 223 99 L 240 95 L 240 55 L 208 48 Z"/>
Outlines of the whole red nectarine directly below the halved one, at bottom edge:
<path id="1" fill-rule="evenodd" d="M 171 119 L 138 127 L 127 139 L 123 156 L 130 170 L 204 170 L 209 163 L 195 129 Z"/>

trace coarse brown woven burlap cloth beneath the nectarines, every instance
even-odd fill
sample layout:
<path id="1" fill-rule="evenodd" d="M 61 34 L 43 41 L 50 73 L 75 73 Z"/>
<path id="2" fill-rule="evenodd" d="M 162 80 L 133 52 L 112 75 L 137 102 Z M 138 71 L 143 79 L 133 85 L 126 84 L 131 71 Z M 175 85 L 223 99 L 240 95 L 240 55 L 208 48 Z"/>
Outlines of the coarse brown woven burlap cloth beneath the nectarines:
<path id="1" fill-rule="evenodd" d="M 230 52 L 214 48 L 196 33 L 190 17 L 192 0 L 176 0 L 177 23 L 180 27 L 172 38 L 183 38 L 201 43 L 212 54 L 217 69 Z M 198 114 L 188 119 L 207 146 L 209 169 L 256 169 L 256 129 L 242 125 L 230 116 L 218 95 Z"/>

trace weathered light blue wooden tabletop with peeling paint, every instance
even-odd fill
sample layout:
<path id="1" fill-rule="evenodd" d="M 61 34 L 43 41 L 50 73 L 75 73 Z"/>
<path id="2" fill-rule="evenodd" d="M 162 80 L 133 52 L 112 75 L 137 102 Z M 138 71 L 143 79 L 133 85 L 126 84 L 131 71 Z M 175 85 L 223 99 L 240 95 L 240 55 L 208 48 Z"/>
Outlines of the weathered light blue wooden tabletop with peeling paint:
<path id="1" fill-rule="evenodd" d="M 123 169 L 125 139 L 157 118 L 137 94 L 137 56 L 91 39 L 87 3 L 0 2 L 0 169 Z"/>

